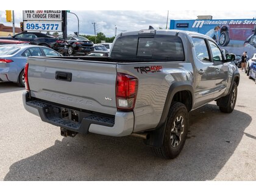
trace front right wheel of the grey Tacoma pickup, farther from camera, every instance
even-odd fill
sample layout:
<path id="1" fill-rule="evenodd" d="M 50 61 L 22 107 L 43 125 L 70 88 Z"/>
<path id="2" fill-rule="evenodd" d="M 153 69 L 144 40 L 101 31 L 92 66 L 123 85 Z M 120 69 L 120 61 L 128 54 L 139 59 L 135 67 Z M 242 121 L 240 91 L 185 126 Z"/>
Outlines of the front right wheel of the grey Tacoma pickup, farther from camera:
<path id="1" fill-rule="evenodd" d="M 219 110 L 221 110 L 221 112 L 223 113 L 232 113 L 235 108 L 236 98 L 237 98 L 237 84 L 236 82 L 233 82 L 231 92 L 227 96 L 224 96 L 223 98 L 221 98 L 221 102 L 223 102 L 224 104 L 227 104 L 227 106 L 219 107 Z"/>

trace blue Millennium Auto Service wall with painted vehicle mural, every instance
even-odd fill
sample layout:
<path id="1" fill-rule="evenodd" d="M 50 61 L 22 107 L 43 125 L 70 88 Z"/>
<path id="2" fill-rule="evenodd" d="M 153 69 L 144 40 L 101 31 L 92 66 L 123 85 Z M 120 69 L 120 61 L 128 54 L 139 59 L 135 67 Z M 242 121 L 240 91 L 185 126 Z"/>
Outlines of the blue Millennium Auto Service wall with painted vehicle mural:
<path id="1" fill-rule="evenodd" d="M 247 51 L 250 57 L 256 52 L 256 20 L 171 20 L 169 29 L 208 35 L 222 49 L 234 54 L 241 55 Z"/>

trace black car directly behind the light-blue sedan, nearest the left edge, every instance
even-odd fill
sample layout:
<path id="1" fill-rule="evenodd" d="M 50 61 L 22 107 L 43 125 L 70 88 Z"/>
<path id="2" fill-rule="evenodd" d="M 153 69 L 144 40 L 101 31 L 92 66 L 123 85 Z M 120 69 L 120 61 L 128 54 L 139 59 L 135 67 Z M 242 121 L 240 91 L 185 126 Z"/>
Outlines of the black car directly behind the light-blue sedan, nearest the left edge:
<path id="1" fill-rule="evenodd" d="M 68 52 L 68 43 L 66 40 L 58 40 L 55 37 L 40 32 L 21 32 L 12 37 L 1 37 L 0 39 L 29 41 L 30 44 L 52 48 L 55 51 L 60 52 L 60 54 L 66 54 Z"/>

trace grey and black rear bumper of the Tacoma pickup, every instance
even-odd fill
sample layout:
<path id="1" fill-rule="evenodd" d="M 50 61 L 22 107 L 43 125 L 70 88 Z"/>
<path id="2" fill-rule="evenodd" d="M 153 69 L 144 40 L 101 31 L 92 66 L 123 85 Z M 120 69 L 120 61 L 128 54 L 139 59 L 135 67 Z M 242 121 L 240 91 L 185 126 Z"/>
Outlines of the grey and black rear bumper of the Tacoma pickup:
<path id="1" fill-rule="evenodd" d="M 23 93 L 23 105 L 28 112 L 40 116 L 42 121 L 77 133 L 91 132 L 121 137 L 130 135 L 133 131 L 133 112 L 116 112 L 115 116 L 85 112 L 77 108 L 29 99 L 28 92 Z M 63 111 L 68 114 L 65 118 Z"/>

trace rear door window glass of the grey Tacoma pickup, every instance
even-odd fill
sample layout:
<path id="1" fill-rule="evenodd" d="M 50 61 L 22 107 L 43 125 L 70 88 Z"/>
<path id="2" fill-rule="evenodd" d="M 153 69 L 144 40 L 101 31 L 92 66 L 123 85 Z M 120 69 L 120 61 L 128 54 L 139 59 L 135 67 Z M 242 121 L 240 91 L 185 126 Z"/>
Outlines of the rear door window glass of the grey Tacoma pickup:
<path id="1" fill-rule="evenodd" d="M 202 62 L 209 62 L 210 57 L 205 40 L 202 38 L 193 38 L 194 50 L 196 51 L 196 57 Z"/>

